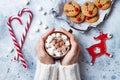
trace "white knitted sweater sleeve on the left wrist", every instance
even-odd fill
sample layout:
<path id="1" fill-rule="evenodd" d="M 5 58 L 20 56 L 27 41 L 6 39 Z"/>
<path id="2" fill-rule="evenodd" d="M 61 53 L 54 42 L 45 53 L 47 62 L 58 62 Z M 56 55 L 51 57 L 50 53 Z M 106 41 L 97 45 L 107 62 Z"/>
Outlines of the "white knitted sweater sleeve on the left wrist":
<path id="1" fill-rule="evenodd" d="M 42 64 L 37 61 L 34 80 L 57 80 L 58 68 L 55 64 Z"/>

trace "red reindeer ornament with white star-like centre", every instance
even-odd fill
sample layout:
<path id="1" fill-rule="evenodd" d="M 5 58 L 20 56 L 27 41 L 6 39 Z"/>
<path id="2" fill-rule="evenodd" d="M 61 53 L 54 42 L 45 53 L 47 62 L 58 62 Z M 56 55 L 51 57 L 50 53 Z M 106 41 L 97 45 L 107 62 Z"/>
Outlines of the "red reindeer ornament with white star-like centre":
<path id="1" fill-rule="evenodd" d="M 104 34 L 101 30 L 99 30 L 99 33 L 100 35 L 94 37 L 94 39 L 100 40 L 100 42 L 87 48 L 89 55 L 92 57 L 91 65 L 93 65 L 96 57 L 99 57 L 103 54 L 107 55 L 108 57 L 112 57 L 112 55 L 106 51 L 106 45 L 105 45 L 105 40 L 111 38 L 112 35 L 108 33 Z M 95 52 L 97 48 L 99 49 L 99 52 Z"/>

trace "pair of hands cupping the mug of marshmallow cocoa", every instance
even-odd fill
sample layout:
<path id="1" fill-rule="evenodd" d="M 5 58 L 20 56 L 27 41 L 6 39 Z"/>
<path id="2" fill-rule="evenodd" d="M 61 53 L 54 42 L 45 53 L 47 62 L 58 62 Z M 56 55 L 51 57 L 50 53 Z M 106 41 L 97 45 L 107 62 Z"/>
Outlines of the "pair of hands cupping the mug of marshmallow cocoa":
<path id="1" fill-rule="evenodd" d="M 43 64 L 54 64 L 55 60 L 49 56 L 45 49 L 44 49 L 44 41 L 47 38 L 47 36 L 55 31 L 55 28 L 51 28 L 49 31 L 47 31 L 40 40 L 38 41 L 36 45 L 36 53 L 38 56 L 38 59 Z M 69 38 L 71 42 L 71 49 L 70 51 L 61 59 L 61 65 L 71 65 L 77 62 L 79 52 L 80 52 L 80 46 L 75 37 L 68 31 L 66 31 L 64 28 L 60 28 L 60 31 L 65 33 Z"/>

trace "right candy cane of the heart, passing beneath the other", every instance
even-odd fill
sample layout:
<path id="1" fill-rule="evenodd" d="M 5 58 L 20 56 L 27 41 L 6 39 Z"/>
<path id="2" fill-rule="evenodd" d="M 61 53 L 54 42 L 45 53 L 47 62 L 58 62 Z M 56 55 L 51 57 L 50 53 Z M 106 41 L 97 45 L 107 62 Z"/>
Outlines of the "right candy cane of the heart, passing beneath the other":
<path id="1" fill-rule="evenodd" d="M 24 28 L 24 30 L 23 30 L 23 33 L 22 33 L 22 35 L 21 35 L 21 40 L 20 40 L 20 42 L 19 42 L 21 48 L 22 48 L 22 46 L 23 46 L 23 43 L 24 43 L 24 41 L 25 41 L 25 37 L 26 37 L 26 35 L 27 35 L 27 32 L 28 32 L 28 30 L 29 30 L 29 27 L 30 27 L 30 24 L 31 24 L 32 18 L 33 18 L 32 12 L 31 12 L 29 9 L 27 9 L 27 8 L 23 8 L 22 10 L 20 10 L 20 11 L 18 12 L 18 16 L 19 16 L 19 17 L 22 16 L 22 13 L 23 13 L 23 12 L 27 12 L 27 13 L 29 14 L 29 17 L 28 17 L 28 20 L 27 20 L 27 22 L 26 22 L 26 25 L 25 25 L 25 28 Z M 18 59 L 18 54 L 16 54 L 16 56 L 15 56 L 14 59 L 16 59 L 16 60 Z"/>

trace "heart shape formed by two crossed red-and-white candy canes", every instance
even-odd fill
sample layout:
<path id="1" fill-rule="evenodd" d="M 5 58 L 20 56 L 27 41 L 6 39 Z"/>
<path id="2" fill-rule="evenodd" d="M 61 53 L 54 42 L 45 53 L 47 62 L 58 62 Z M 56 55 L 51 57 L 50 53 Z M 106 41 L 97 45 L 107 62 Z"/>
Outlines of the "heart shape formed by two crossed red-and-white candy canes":
<path id="1" fill-rule="evenodd" d="M 23 33 L 22 33 L 20 43 L 18 43 L 18 42 L 17 42 L 17 39 L 16 39 L 16 37 L 15 37 L 15 34 L 14 34 L 14 32 L 13 32 L 13 29 L 12 29 L 11 21 L 12 21 L 12 20 L 17 20 L 17 21 L 19 21 L 20 24 L 22 24 L 21 19 L 20 19 L 20 16 L 22 15 L 23 12 L 28 12 L 28 13 L 29 13 L 29 17 L 28 17 L 28 20 L 27 20 L 27 22 L 26 22 L 24 31 L 23 31 Z M 24 57 L 23 57 L 23 55 L 22 55 L 21 48 L 22 48 L 23 43 L 24 43 L 24 41 L 25 41 L 25 37 L 26 37 L 27 32 L 28 32 L 28 30 L 29 30 L 29 27 L 30 27 L 32 18 L 33 18 L 32 12 L 31 12 L 29 9 L 27 9 L 27 8 L 23 8 L 22 10 L 20 10 L 20 11 L 18 12 L 18 16 L 11 16 L 11 17 L 8 18 L 8 21 L 7 21 L 7 26 L 8 26 L 8 29 L 9 29 L 9 32 L 10 32 L 10 35 L 11 35 L 11 38 L 12 38 L 12 40 L 13 40 L 13 43 L 14 43 L 14 45 L 15 45 L 16 51 L 17 51 L 17 54 L 16 54 L 16 56 L 15 56 L 14 59 L 17 60 L 18 57 L 19 57 L 19 58 L 20 58 L 20 61 L 22 62 L 22 65 L 23 65 L 24 68 L 27 67 L 27 64 L 26 64 L 26 61 L 25 61 L 25 59 L 24 59 Z"/>

